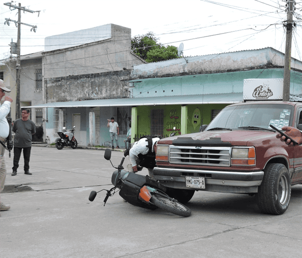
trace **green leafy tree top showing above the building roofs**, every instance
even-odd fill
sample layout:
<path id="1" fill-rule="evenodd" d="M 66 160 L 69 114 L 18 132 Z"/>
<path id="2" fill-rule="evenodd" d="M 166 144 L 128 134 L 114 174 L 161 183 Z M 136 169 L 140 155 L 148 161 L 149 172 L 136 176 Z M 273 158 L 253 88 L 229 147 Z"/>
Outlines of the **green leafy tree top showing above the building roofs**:
<path id="1" fill-rule="evenodd" d="M 170 45 L 165 47 L 158 40 L 153 32 L 137 35 L 131 39 L 131 49 L 148 63 L 178 58 L 177 47 Z"/>

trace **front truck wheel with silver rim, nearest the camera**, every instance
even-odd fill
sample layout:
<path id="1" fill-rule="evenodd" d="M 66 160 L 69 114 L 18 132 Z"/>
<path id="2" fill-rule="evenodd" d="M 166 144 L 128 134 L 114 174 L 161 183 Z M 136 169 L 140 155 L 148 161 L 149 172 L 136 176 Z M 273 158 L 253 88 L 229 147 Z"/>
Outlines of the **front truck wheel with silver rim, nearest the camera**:
<path id="1" fill-rule="evenodd" d="M 287 210 L 291 198 L 291 181 L 285 165 L 272 163 L 267 166 L 256 198 L 263 213 L 280 215 Z"/>

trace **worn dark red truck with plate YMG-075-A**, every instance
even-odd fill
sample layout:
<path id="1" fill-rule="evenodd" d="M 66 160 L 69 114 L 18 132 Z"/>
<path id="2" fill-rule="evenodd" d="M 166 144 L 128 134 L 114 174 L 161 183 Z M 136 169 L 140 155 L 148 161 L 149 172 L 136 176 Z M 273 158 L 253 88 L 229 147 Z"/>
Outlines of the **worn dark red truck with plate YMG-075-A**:
<path id="1" fill-rule="evenodd" d="M 291 185 L 302 184 L 302 145 L 281 142 L 270 125 L 302 130 L 302 103 L 229 105 L 204 131 L 159 140 L 153 177 L 183 203 L 195 191 L 256 194 L 262 212 L 283 214 Z"/>

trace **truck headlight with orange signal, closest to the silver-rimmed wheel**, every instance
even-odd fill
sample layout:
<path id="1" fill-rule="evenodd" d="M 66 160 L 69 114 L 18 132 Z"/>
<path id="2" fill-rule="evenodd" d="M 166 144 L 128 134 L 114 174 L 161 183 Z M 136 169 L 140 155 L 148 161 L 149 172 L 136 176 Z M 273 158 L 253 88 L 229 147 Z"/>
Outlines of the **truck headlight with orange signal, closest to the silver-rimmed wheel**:
<path id="1" fill-rule="evenodd" d="M 255 165 L 256 155 L 254 147 L 232 148 L 232 165 Z"/>

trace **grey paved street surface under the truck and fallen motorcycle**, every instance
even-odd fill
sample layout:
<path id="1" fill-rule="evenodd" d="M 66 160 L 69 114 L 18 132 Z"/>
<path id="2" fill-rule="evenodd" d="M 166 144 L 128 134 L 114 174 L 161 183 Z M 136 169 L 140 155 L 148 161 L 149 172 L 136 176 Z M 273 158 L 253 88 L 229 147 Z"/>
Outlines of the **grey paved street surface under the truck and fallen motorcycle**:
<path id="1" fill-rule="evenodd" d="M 30 172 L 11 176 L 1 201 L 1 258 L 301 258 L 302 185 L 288 210 L 261 214 L 255 197 L 197 192 L 188 218 L 134 207 L 119 194 L 103 206 L 114 169 L 103 150 L 32 147 Z M 119 164 L 123 153 L 115 151 Z M 127 162 L 125 161 L 124 164 Z M 147 170 L 140 172 L 147 174 Z M 30 191 L 29 191 L 30 190 Z M 13 192 L 14 191 L 14 192 Z"/>

